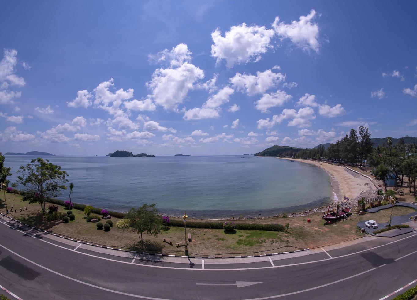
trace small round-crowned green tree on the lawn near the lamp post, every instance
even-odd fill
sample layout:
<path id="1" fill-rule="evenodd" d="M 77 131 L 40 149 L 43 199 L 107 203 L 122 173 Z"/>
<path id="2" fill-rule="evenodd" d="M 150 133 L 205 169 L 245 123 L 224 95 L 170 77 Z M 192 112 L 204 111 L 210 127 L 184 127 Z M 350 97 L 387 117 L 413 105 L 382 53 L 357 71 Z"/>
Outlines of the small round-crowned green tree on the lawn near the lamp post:
<path id="1" fill-rule="evenodd" d="M 156 204 L 143 204 L 132 208 L 126 214 L 130 229 L 137 233 L 139 241 L 143 244 L 143 234 L 157 235 L 161 232 L 161 216 L 158 215 Z"/>

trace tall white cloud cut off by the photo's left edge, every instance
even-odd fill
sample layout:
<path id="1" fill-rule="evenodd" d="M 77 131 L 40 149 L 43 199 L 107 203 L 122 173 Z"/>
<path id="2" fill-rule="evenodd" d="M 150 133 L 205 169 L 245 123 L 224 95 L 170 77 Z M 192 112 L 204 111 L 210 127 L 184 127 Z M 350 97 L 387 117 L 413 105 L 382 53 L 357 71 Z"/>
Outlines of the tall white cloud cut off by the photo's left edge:
<path id="1" fill-rule="evenodd" d="M 13 98 L 19 98 L 21 92 L 10 91 L 10 86 L 22 87 L 25 80 L 15 74 L 18 62 L 18 51 L 15 49 L 4 49 L 4 57 L 0 61 L 0 104 L 6 104 Z"/>

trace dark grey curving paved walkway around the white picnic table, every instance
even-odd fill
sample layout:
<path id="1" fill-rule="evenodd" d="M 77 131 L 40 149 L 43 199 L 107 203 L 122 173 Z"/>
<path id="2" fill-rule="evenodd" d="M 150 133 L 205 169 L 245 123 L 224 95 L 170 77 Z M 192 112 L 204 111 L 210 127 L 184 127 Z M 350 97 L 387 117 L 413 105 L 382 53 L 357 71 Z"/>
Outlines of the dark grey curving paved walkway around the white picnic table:
<path id="1" fill-rule="evenodd" d="M 417 209 L 417 205 L 416 204 L 412 204 L 412 203 L 409 203 L 409 202 L 398 202 L 398 203 L 395 203 L 394 206 L 404 206 L 404 207 L 411 207 L 411 208 Z M 391 204 L 387 204 L 387 205 L 382 205 L 382 206 L 379 206 L 379 207 L 372 207 L 370 209 L 367 209 L 366 212 L 374 213 L 374 212 L 379 212 L 382 209 L 390 209 L 390 208 L 391 208 Z M 401 216 L 392 216 L 391 226 L 393 226 L 393 225 L 401 225 L 401 224 L 407 223 L 407 222 L 410 221 L 410 218 L 412 216 L 414 216 L 415 214 L 417 214 L 417 212 L 412 212 L 410 214 L 403 214 Z M 372 217 L 369 217 L 369 219 L 372 219 Z M 365 226 L 365 223 L 366 222 L 367 221 L 358 222 L 357 226 L 359 228 L 365 229 L 365 232 L 370 233 L 370 234 L 373 234 L 373 232 L 375 232 L 377 230 L 385 229 L 388 226 L 388 223 L 379 223 L 378 224 L 378 228 L 375 228 L 375 229 L 374 228 L 368 228 L 368 227 Z M 407 232 L 410 232 L 410 231 L 414 231 L 414 230 L 415 229 L 395 230 L 395 231 L 394 230 L 390 230 L 392 232 L 390 232 L 388 235 L 384 235 L 384 236 L 393 237 L 393 236 L 397 236 L 397 235 L 404 234 L 404 233 L 407 233 Z"/>

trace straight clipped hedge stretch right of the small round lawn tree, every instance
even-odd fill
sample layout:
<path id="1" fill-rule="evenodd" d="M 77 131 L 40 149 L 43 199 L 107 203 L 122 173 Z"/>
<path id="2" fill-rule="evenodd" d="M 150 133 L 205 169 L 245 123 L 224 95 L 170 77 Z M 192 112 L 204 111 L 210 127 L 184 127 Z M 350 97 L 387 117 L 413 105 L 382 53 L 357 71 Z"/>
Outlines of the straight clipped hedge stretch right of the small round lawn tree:
<path id="1" fill-rule="evenodd" d="M 180 220 L 170 220 L 170 226 L 183 227 L 184 222 Z M 223 229 L 223 222 L 195 222 L 187 221 L 187 227 Z M 266 230 L 266 231 L 285 231 L 285 226 L 281 224 L 257 224 L 257 223 L 236 223 L 236 229 L 241 230 Z"/>

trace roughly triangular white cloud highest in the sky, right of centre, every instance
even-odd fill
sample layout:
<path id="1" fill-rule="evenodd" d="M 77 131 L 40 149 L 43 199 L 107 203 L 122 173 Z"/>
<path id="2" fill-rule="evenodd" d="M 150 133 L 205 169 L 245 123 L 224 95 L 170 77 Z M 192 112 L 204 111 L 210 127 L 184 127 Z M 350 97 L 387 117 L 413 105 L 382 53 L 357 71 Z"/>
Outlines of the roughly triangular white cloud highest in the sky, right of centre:
<path id="1" fill-rule="evenodd" d="M 300 16 L 299 20 L 291 24 L 279 23 L 279 17 L 275 18 L 272 27 L 282 38 L 289 38 L 296 46 L 303 50 L 314 50 L 319 52 L 319 25 L 311 23 L 316 16 L 316 11 L 311 10 L 306 16 Z"/>

